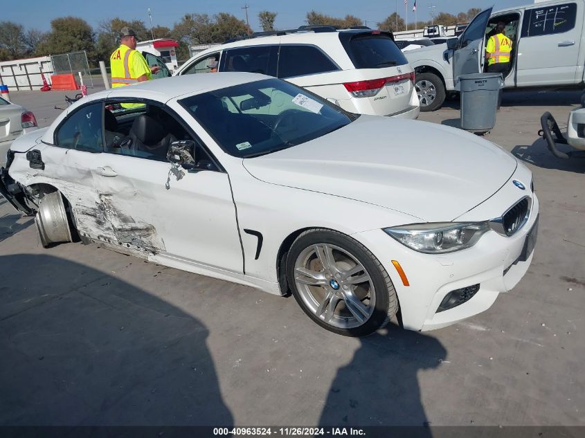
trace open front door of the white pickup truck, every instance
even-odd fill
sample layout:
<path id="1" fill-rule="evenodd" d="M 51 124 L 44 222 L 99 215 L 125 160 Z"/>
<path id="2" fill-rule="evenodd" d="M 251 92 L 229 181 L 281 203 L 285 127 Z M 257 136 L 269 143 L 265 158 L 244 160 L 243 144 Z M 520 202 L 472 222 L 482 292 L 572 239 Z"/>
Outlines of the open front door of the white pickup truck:
<path id="1" fill-rule="evenodd" d="M 453 53 L 453 81 L 457 83 L 460 75 L 480 73 L 485 52 L 485 28 L 492 8 L 480 12 L 459 37 L 458 46 Z"/>

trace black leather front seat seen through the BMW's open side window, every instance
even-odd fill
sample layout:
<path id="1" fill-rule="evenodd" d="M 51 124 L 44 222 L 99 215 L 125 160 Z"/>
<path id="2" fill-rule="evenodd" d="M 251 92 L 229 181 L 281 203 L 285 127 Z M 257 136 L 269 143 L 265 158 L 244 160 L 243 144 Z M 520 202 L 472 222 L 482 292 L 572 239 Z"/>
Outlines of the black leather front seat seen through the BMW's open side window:
<path id="1" fill-rule="evenodd" d="M 168 148 L 177 140 L 160 122 L 146 114 L 134 119 L 129 137 L 132 139 L 130 148 L 135 151 L 136 156 L 160 161 L 167 161 Z"/>

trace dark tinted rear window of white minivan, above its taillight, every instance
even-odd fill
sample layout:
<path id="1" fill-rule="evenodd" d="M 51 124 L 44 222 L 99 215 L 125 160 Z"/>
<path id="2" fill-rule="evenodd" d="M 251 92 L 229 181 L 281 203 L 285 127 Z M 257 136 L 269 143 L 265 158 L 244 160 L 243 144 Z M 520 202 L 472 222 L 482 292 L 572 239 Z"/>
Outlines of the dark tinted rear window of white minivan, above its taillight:
<path id="1" fill-rule="evenodd" d="M 384 69 L 408 64 L 402 51 L 386 35 L 356 35 L 345 50 L 356 69 Z"/>

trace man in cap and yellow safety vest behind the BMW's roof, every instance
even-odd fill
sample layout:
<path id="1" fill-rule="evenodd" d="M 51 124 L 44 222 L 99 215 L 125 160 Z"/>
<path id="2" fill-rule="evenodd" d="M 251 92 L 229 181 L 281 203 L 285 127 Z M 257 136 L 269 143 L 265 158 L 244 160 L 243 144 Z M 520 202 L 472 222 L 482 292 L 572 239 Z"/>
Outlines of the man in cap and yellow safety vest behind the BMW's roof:
<path id="1" fill-rule="evenodd" d="M 111 54 L 109 61 L 112 88 L 151 80 L 159 71 L 158 66 L 149 67 L 142 53 L 136 50 L 136 33 L 128 27 L 120 30 L 120 47 Z"/>

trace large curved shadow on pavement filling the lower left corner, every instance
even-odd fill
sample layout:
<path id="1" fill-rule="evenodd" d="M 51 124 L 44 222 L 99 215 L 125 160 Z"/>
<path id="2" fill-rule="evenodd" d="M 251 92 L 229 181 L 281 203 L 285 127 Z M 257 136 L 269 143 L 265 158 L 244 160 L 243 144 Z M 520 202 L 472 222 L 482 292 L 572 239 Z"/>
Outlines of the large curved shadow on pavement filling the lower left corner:
<path id="1" fill-rule="evenodd" d="M 57 257 L 0 274 L 0 424 L 233 425 L 197 319 Z"/>

